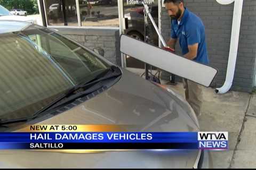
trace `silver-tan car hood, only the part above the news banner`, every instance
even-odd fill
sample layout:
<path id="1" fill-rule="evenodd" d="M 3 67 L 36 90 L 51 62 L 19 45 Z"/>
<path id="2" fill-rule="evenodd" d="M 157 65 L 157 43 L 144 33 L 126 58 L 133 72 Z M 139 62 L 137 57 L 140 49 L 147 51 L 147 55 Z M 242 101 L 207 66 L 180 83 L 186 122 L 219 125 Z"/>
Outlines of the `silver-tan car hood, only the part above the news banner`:
<path id="1" fill-rule="evenodd" d="M 108 90 L 40 124 L 115 124 L 134 125 L 127 131 L 198 131 L 183 103 L 167 90 L 123 70 L 122 78 Z"/>

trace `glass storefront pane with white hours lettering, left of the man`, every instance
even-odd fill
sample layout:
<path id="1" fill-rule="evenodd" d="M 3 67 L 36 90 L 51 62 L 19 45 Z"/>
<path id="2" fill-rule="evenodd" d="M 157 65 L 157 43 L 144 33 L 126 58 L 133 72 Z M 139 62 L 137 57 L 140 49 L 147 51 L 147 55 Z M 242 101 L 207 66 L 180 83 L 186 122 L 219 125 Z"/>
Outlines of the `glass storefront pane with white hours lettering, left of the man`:
<path id="1" fill-rule="evenodd" d="M 158 1 L 157 0 L 143 0 L 149 7 L 151 16 L 156 25 L 158 25 Z M 158 46 L 158 36 L 153 27 L 152 22 L 147 18 L 148 25 L 145 33 L 145 18 L 144 6 L 140 0 L 124 0 L 124 18 L 127 21 L 125 34 L 135 39 L 145 41 L 145 34 L 148 37 L 147 43 Z M 126 66 L 135 67 L 139 69 L 145 68 L 145 63 L 131 57 L 126 56 Z"/>

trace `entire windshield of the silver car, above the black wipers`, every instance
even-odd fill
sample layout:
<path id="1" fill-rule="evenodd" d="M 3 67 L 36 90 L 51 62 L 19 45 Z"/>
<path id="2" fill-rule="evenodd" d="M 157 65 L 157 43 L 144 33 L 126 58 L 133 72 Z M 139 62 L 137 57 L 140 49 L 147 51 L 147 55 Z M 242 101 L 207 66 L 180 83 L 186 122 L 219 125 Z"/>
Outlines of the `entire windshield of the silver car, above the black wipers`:
<path id="1" fill-rule="evenodd" d="M 33 115 L 110 65 L 49 29 L 30 25 L 0 35 L 0 119 Z"/>

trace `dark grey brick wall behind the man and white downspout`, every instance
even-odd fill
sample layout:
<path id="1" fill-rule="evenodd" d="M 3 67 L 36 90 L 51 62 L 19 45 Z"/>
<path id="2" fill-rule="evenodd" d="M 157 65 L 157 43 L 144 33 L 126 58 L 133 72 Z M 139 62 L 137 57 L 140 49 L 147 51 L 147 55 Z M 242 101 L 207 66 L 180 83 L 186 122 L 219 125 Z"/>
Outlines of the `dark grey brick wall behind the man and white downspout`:
<path id="1" fill-rule="evenodd" d="M 226 78 L 234 3 L 221 5 L 215 0 L 185 0 L 185 6 L 204 22 L 210 65 L 219 70 L 211 86 L 220 87 Z M 167 40 L 170 37 L 170 18 L 164 9 L 162 10 L 161 21 L 162 35 Z M 181 54 L 178 44 L 176 48 L 178 54 Z M 255 58 L 256 1 L 244 0 L 232 90 L 252 91 Z M 166 72 L 162 74 L 164 79 L 168 79 L 169 76 L 170 74 Z"/>

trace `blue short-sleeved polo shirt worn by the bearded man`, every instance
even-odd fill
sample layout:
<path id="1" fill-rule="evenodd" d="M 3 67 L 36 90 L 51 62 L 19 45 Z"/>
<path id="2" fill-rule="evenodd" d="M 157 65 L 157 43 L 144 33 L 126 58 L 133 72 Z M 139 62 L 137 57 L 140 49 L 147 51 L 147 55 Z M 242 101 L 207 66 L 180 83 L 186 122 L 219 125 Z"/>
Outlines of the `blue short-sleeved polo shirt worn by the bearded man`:
<path id="1" fill-rule="evenodd" d="M 202 64 L 209 64 L 205 28 L 202 20 L 185 8 L 180 24 L 178 24 L 178 20 L 172 20 L 171 24 L 171 37 L 174 39 L 179 38 L 182 55 L 189 52 L 188 45 L 198 43 L 197 56 L 193 60 Z"/>

